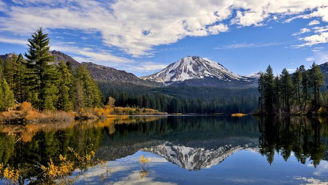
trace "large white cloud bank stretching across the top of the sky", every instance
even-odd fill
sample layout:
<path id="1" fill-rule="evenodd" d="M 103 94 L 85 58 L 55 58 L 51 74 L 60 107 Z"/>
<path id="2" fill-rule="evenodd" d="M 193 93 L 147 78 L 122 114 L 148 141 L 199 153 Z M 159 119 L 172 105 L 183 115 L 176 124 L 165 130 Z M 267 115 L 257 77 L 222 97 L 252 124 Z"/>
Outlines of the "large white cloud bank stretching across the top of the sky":
<path id="1" fill-rule="evenodd" d="M 134 57 L 152 55 L 154 46 L 175 43 L 186 36 L 226 32 L 229 28 L 223 21 L 229 19 L 240 26 L 261 26 L 267 20 L 278 21 L 315 10 L 302 18 L 318 17 L 328 21 L 326 0 L 297 3 L 293 0 L 15 2 L 16 5 L 7 8 L 7 17 L 0 17 L 0 31 L 27 35 L 42 26 L 48 30 L 99 33 L 105 45 Z"/>

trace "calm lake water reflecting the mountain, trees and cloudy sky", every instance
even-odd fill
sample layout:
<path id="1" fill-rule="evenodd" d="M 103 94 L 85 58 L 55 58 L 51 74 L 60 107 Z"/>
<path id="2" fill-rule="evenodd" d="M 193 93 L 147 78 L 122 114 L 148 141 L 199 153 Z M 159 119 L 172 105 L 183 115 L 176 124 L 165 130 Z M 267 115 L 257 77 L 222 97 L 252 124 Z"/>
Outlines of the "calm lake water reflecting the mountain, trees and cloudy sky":
<path id="1" fill-rule="evenodd" d="M 0 163 L 96 150 L 76 184 L 328 184 L 327 118 L 169 116 L 0 126 Z M 151 161 L 143 168 L 140 156 Z M 76 173 L 73 174 L 73 176 Z M 28 182 L 27 180 L 25 181 Z M 1 182 L 0 182 L 1 183 Z"/>

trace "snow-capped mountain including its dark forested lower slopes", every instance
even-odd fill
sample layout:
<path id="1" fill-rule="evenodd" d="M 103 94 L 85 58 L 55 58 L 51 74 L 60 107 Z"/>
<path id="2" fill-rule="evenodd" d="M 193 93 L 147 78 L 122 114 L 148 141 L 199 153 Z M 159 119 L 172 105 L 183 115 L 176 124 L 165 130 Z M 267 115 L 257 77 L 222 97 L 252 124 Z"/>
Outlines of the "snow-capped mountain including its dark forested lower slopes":
<path id="1" fill-rule="evenodd" d="M 255 84 L 253 78 L 235 74 L 219 63 L 197 56 L 185 57 L 157 73 L 140 78 L 166 85 L 234 86 Z"/>

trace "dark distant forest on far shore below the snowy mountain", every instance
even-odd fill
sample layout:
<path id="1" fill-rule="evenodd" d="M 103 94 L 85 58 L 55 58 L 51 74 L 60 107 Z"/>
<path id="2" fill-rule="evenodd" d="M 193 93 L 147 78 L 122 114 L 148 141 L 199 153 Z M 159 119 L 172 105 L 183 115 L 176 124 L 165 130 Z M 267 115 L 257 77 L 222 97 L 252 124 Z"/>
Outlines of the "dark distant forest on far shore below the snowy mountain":
<path id="1" fill-rule="evenodd" d="M 133 88 L 132 86 L 131 88 Z M 125 87 L 127 88 L 127 87 Z M 128 89 L 127 92 L 130 90 Z M 142 90 L 140 90 L 142 91 Z M 116 106 L 144 107 L 168 113 L 251 113 L 257 108 L 256 88 L 232 89 L 212 87 L 161 87 L 144 94 L 111 90 L 106 97 L 115 98 Z"/>

